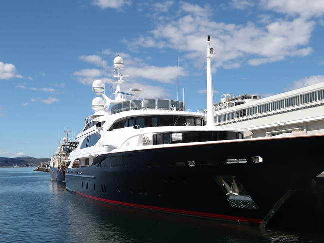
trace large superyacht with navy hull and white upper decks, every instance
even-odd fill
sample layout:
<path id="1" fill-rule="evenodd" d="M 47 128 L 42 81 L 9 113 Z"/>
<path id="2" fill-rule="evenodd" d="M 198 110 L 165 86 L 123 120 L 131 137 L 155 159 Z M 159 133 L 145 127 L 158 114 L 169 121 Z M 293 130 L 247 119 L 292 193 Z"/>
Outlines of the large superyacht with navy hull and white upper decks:
<path id="1" fill-rule="evenodd" d="M 114 59 L 115 99 L 95 80 L 94 114 L 69 155 L 66 189 L 108 204 L 265 226 L 295 190 L 324 171 L 324 136 L 246 138 L 244 128 L 215 126 L 207 40 L 207 111 L 123 92 Z M 132 97 L 127 100 L 126 97 Z"/>

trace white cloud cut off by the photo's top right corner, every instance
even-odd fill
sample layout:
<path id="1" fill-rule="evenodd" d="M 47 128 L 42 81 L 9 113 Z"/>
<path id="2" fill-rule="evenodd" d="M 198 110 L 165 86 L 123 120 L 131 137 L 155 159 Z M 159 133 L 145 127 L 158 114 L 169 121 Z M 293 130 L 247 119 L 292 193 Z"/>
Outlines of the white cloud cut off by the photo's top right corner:
<path id="1" fill-rule="evenodd" d="M 261 4 L 267 9 L 306 18 L 324 14 L 323 0 L 261 0 Z"/>

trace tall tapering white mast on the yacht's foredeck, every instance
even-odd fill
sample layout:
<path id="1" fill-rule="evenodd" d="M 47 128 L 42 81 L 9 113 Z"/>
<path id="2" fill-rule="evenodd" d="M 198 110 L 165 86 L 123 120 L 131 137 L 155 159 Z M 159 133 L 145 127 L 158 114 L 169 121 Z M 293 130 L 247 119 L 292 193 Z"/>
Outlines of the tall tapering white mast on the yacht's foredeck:
<path id="1" fill-rule="evenodd" d="M 210 47 L 210 35 L 207 37 L 207 126 L 215 126 L 214 121 L 214 98 L 211 57 L 214 55 L 213 48 Z"/>

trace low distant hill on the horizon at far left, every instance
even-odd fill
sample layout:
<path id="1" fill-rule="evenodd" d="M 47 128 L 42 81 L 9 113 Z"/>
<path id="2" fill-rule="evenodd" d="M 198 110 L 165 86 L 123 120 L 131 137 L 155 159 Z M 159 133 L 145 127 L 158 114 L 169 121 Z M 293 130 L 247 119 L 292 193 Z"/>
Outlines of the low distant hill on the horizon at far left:
<path id="1" fill-rule="evenodd" d="M 6 158 L 0 157 L 0 167 L 36 167 L 40 163 L 48 163 L 49 158 L 17 157 Z"/>

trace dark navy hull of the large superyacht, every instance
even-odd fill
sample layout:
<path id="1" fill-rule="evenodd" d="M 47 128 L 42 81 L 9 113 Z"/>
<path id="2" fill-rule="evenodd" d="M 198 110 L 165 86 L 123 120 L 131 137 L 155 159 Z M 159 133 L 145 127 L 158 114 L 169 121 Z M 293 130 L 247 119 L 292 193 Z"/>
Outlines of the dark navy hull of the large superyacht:
<path id="1" fill-rule="evenodd" d="M 265 226 L 324 171 L 323 144 L 324 136 L 305 136 L 110 153 L 101 159 L 121 157 L 124 166 L 67 169 L 66 189 L 110 204 Z M 256 156 L 263 162 L 252 162 Z"/>

